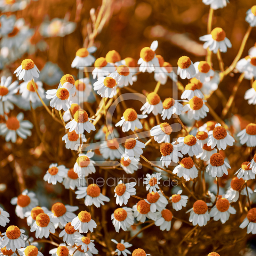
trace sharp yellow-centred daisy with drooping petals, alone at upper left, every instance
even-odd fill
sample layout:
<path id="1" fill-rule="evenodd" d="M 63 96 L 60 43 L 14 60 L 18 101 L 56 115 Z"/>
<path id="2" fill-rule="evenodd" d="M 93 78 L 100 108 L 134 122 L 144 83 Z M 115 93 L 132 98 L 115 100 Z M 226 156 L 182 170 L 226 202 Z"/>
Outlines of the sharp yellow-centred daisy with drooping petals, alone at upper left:
<path id="1" fill-rule="evenodd" d="M 39 73 L 39 69 L 31 59 L 22 60 L 19 68 L 14 71 L 14 74 L 16 74 L 17 77 L 19 76 L 19 80 L 23 79 L 25 82 L 32 80 L 34 77 L 39 77 Z"/>

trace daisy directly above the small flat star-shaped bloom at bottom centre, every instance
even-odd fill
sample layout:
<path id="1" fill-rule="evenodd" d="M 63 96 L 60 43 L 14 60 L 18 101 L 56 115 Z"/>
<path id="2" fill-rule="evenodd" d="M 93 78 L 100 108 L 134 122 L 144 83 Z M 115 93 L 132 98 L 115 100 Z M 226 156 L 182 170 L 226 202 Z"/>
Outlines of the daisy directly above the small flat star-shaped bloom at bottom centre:
<path id="1" fill-rule="evenodd" d="M 117 208 L 114 213 L 111 214 L 111 220 L 116 229 L 116 232 L 119 232 L 120 228 L 122 228 L 124 231 L 127 231 L 127 229 L 134 224 L 132 208 Z"/>

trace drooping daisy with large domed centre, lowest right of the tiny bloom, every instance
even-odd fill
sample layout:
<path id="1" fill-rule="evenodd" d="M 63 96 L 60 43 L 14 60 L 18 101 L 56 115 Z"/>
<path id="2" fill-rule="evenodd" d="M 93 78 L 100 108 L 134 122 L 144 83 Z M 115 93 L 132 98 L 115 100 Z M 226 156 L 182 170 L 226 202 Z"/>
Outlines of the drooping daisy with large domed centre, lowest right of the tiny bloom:
<path id="1" fill-rule="evenodd" d="M 203 200 L 197 200 L 193 204 L 193 208 L 186 213 L 188 212 L 190 212 L 189 222 L 192 222 L 193 226 L 196 226 L 197 224 L 199 227 L 206 226 L 207 221 L 210 220 L 208 206 Z"/>

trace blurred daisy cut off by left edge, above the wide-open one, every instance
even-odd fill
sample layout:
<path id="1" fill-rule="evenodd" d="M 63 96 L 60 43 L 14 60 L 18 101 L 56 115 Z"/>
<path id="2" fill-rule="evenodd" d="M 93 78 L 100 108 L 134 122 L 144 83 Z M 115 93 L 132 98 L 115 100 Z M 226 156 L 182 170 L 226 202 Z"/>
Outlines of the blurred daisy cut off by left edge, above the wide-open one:
<path id="1" fill-rule="evenodd" d="M 15 99 L 14 95 L 18 92 L 18 81 L 12 83 L 12 76 L 2 76 L 0 83 L 0 115 L 4 116 L 4 113 L 9 113 L 10 109 L 14 106 L 12 101 Z"/>

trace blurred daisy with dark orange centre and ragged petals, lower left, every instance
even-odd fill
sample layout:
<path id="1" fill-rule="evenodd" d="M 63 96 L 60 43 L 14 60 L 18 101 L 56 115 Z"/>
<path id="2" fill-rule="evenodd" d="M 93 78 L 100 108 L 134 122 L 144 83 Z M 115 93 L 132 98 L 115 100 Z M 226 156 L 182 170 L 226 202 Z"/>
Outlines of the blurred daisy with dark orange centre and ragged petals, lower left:
<path id="1" fill-rule="evenodd" d="M 15 213 L 20 219 L 24 219 L 25 212 L 31 211 L 38 205 L 36 194 L 34 192 L 28 192 L 28 189 L 24 189 L 22 193 L 11 199 L 11 204 L 16 205 Z"/>

